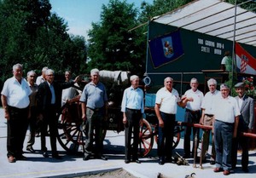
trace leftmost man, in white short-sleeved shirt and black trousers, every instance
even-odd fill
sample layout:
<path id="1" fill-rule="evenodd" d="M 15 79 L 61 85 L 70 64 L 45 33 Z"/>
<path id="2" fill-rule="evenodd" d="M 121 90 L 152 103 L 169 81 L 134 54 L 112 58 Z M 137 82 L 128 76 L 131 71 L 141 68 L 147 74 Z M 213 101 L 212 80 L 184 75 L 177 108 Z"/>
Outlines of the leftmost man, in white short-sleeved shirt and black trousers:
<path id="1" fill-rule="evenodd" d="M 13 66 L 13 78 L 3 84 L 1 100 L 4 109 L 4 118 L 7 119 L 7 157 L 9 163 L 24 160 L 23 143 L 29 118 L 29 95 L 32 90 L 26 80 L 22 78 L 23 67 L 20 64 Z"/>

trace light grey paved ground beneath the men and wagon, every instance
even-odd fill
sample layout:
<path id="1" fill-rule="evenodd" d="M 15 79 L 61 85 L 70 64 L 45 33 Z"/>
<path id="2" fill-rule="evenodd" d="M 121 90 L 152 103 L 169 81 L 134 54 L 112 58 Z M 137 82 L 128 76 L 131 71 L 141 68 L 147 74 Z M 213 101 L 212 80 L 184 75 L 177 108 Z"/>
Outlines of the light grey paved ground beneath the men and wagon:
<path id="1" fill-rule="evenodd" d="M 125 169 L 131 175 L 142 178 L 156 178 L 160 173 L 168 178 L 183 178 L 185 175 L 195 173 L 195 178 L 226 177 L 222 173 L 213 173 L 214 166 L 203 164 L 204 169 L 194 168 L 193 160 L 189 159 L 189 165 L 165 164 L 159 165 L 156 157 L 156 144 L 150 152 L 148 158 L 140 158 L 142 164 L 124 163 L 124 132 L 115 133 L 108 131 L 105 145 L 105 155 L 108 161 L 92 159 L 83 161 L 81 156 L 67 155 L 63 148 L 58 144 L 58 150 L 63 159 L 55 160 L 52 158 L 43 158 L 39 153 L 40 139 L 36 138 L 34 149 L 36 153 L 25 152 L 28 158 L 26 161 L 17 161 L 15 164 L 9 164 L 6 158 L 6 120 L 3 118 L 3 110 L 0 109 L 0 178 L 31 178 L 31 177 L 74 177 L 80 175 L 96 174 L 106 170 Z M 27 136 L 26 136 L 27 139 Z M 49 146 L 49 138 L 47 146 Z M 26 145 L 25 145 L 26 146 Z M 183 153 L 183 140 L 177 146 L 175 152 Z M 25 149 L 24 149 L 25 151 Z M 198 164 L 197 164 L 198 165 Z M 241 171 L 241 156 L 238 157 L 238 168 L 234 174 L 229 177 L 234 178 L 252 178 L 256 175 L 256 152 L 250 152 L 249 162 L 250 172 L 245 174 Z M 114 177 L 114 176 L 113 176 Z"/>

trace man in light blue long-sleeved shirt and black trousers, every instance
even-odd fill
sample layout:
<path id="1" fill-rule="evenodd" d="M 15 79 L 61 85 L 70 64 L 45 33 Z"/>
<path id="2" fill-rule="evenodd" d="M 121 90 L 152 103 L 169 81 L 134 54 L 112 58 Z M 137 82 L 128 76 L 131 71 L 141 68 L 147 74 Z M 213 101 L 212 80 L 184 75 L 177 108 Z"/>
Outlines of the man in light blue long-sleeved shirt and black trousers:
<path id="1" fill-rule="evenodd" d="M 129 164 L 131 161 L 140 164 L 137 158 L 137 148 L 139 144 L 140 123 L 143 122 L 144 94 L 143 89 L 138 88 L 139 77 L 133 75 L 130 80 L 131 87 L 125 89 L 121 105 L 123 123 L 125 124 L 125 164 Z M 133 146 L 131 146 L 132 131 Z"/>

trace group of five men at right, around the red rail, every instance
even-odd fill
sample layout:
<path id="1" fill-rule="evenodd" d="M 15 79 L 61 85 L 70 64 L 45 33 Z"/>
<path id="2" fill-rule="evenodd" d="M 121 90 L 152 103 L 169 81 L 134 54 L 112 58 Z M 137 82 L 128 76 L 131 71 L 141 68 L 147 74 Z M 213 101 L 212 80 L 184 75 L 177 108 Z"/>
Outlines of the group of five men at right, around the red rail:
<path id="1" fill-rule="evenodd" d="M 165 78 L 165 87 L 156 93 L 156 116 L 159 120 L 158 151 L 159 164 L 172 161 L 173 129 L 177 105 L 185 107 L 185 123 L 201 123 L 212 126 L 203 130 L 201 157 L 204 160 L 208 146 L 209 135 L 212 132 L 212 157 L 210 164 L 216 164 L 214 172 L 223 171 L 230 175 L 236 169 L 237 146 L 242 148 L 241 168 L 248 171 L 248 138 L 241 136 L 241 132 L 252 132 L 254 125 L 253 99 L 245 95 L 244 83 L 236 83 L 236 97 L 230 96 L 228 85 L 220 84 L 213 78 L 207 81 L 209 91 L 204 96 L 198 89 L 196 78 L 190 80 L 191 89 L 179 98 L 177 90 L 172 88 L 173 79 Z M 190 135 L 193 129 L 192 155 L 190 154 Z M 170 139 L 171 138 L 171 139 Z M 166 141 L 164 141 L 166 139 Z M 197 141 L 197 143 L 195 143 Z M 184 130 L 183 158 L 197 158 L 199 129 L 188 124 Z"/>

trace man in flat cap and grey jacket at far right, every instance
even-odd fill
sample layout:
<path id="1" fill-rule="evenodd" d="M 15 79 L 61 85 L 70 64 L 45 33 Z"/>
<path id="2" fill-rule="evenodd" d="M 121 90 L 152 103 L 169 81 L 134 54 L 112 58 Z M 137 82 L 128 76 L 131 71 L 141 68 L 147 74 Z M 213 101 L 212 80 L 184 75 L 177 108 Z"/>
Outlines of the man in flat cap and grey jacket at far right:
<path id="1" fill-rule="evenodd" d="M 241 132 L 249 132 L 252 133 L 253 125 L 254 125 L 254 106 L 253 106 L 253 98 L 245 95 L 245 86 L 244 83 L 236 83 L 236 100 L 241 112 L 239 116 L 239 123 L 237 129 L 237 137 L 233 139 L 232 146 L 232 168 L 236 168 L 237 161 L 237 148 L 238 145 L 241 146 L 241 169 L 244 172 L 248 172 L 248 137 L 242 136 Z"/>

